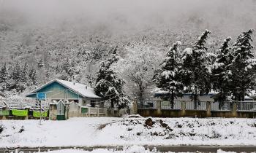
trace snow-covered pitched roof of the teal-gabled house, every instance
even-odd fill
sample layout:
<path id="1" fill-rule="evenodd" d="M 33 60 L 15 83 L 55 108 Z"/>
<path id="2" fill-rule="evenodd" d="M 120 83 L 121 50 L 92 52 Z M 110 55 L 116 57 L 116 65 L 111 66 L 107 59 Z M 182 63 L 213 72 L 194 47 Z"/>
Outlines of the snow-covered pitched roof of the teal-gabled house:
<path id="1" fill-rule="evenodd" d="M 83 96 L 84 98 L 100 98 L 98 95 L 96 95 L 94 93 L 94 89 L 92 89 L 91 87 L 88 87 L 87 85 L 83 85 L 83 84 L 76 83 L 76 82 L 68 82 L 68 81 L 61 80 L 61 79 L 53 79 L 52 81 L 46 83 L 45 85 L 38 87 L 36 90 L 33 90 L 28 95 L 37 93 L 37 91 L 41 90 L 43 87 L 50 85 L 53 82 L 58 82 L 60 85 L 67 87 L 73 93 L 76 93 L 76 94 L 78 93 L 79 95 Z"/>

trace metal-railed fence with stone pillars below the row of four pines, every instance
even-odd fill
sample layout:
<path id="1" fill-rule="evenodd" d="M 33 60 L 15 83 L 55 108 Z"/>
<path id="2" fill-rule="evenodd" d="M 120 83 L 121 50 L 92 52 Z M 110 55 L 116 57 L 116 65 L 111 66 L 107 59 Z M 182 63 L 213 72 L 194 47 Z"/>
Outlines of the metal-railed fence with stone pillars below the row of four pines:
<path id="1" fill-rule="evenodd" d="M 256 117 L 256 101 L 175 101 L 173 106 L 169 101 L 155 103 L 153 106 L 139 103 L 136 112 L 145 117 Z"/>

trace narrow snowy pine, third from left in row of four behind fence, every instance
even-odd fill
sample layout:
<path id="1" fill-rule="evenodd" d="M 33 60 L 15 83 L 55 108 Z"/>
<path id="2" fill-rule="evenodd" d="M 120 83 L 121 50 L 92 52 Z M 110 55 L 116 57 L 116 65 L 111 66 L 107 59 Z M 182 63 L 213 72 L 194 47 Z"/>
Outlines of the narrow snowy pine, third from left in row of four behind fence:
<path id="1" fill-rule="evenodd" d="M 224 40 L 222 46 L 217 51 L 217 59 L 212 68 L 211 82 L 213 90 L 219 92 L 217 95 L 214 95 L 214 101 L 219 102 L 219 109 L 227 100 L 227 95 L 230 95 L 230 63 L 233 60 L 232 50 L 230 50 L 228 45 L 230 40 L 230 36 Z"/>

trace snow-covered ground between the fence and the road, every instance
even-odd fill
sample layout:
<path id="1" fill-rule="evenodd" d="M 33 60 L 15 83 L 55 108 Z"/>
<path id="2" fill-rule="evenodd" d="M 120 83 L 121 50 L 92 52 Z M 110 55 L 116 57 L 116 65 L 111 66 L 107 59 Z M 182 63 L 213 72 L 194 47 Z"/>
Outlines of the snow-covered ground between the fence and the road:
<path id="1" fill-rule="evenodd" d="M 2 120 L 0 147 L 255 145 L 256 119 L 80 117 L 66 121 Z"/>

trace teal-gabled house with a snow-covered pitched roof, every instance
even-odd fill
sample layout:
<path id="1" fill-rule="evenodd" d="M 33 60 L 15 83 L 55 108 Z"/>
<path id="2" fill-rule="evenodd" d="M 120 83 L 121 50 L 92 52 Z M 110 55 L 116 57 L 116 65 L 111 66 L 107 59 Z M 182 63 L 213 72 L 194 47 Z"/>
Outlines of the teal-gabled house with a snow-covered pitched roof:
<path id="1" fill-rule="evenodd" d="M 97 103 L 101 101 L 102 98 L 94 93 L 94 89 L 77 82 L 53 79 L 52 81 L 27 94 L 26 97 L 37 98 L 38 93 L 45 93 L 46 101 L 50 103 L 64 100 L 69 103 L 74 101 L 80 106 L 104 106 L 104 103 Z"/>

